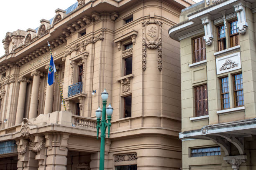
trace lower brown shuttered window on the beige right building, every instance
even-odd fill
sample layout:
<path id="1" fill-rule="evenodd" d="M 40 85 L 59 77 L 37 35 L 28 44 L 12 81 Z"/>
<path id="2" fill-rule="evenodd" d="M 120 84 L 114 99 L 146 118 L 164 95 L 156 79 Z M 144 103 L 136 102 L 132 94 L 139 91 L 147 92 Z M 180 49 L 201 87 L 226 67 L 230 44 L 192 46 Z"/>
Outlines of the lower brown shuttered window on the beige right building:
<path id="1" fill-rule="evenodd" d="M 208 115 L 207 85 L 195 87 L 195 115 Z"/>

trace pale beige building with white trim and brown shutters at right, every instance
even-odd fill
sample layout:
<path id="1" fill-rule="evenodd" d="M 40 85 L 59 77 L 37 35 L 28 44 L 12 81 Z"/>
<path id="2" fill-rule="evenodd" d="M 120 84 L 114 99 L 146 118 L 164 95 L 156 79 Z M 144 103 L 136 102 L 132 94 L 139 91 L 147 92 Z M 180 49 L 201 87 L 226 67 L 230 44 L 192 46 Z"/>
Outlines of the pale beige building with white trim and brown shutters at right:
<path id="1" fill-rule="evenodd" d="M 182 10 L 183 170 L 256 170 L 256 1 L 203 0 Z"/>

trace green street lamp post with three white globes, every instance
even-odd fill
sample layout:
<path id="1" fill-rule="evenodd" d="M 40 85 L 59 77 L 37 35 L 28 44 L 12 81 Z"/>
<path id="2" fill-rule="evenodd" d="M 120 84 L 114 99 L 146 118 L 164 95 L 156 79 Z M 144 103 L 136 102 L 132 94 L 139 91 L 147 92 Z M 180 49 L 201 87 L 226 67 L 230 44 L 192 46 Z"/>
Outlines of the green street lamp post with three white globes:
<path id="1" fill-rule="evenodd" d="M 104 170 L 104 159 L 105 159 L 105 137 L 106 137 L 106 128 L 108 127 L 108 138 L 110 133 L 110 126 L 111 126 L 111 116 L 113 113 L 113 107 L 109 104 L 107 105 L 108 100 L 108 92 L 106 89 L 101 93 L 102 98 L 102 110 L 100 107 L 96 110 L 96 117 L 97 117 L 97 139 L 99 138 L 99 130 L 100 130 L 100 170 Z M 103 113 L 103 114 L 102 114 Z M 108 123 L 106 120 L 106 113 L 108 117 Z M 100 120 L 100 118 L 102 119 Z"/>

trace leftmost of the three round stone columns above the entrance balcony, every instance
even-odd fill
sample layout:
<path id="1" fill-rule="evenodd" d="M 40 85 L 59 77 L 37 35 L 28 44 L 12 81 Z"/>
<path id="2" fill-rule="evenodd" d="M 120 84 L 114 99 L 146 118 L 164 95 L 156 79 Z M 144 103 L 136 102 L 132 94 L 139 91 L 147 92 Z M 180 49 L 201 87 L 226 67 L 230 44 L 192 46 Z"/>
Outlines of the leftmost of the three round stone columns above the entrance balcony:
<path id="1" fill-rule="evenodd" d="M 15 125 L 21 123 L 24 117 L 26 89 L 27 89 L 27 82 L 29 82 L 29 80 L 27 80 L 26 77 L 20 77 L 18 78 L 18 82 L 20 83 L 20 91 L 19 91 L 19 97 L 18 97 Z"/>

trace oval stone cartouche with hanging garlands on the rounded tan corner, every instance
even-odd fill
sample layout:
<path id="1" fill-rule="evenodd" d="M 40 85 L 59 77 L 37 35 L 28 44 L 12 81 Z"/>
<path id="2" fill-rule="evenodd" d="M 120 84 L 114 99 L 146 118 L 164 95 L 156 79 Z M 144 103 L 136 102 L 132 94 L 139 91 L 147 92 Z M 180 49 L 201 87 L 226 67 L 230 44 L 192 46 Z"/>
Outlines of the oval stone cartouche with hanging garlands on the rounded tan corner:
<path id="1" fill-rule="evenodd" d="M 156 21 L 154 15 L 150 15 L 149 21 L 143 21 L 142 39 L 142 70 L 146 70 L 146 49 L 158 49 L 158 69 L 162 70 L 162 22 Z"/>

